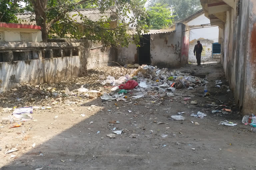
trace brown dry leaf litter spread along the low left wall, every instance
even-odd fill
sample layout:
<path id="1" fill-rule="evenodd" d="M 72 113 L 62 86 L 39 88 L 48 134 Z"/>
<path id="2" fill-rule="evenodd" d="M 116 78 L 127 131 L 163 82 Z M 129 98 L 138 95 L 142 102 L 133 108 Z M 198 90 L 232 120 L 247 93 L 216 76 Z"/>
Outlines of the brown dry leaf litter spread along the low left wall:
<path id="1" fill-rule="evenodd" d="M 134 69 L 118 66 L 95 67 L 88 70 L 87 76 L 65 79 L 58 83 L 17 84 L 17 87 L 0 93 L 0 112 L 13 107 L 84 103 L 83 100 L 96 98 L 99 92 L 111 92 L 111 88 L 101 83 L 102 80 L 118 80 L 132 71 Z"/>

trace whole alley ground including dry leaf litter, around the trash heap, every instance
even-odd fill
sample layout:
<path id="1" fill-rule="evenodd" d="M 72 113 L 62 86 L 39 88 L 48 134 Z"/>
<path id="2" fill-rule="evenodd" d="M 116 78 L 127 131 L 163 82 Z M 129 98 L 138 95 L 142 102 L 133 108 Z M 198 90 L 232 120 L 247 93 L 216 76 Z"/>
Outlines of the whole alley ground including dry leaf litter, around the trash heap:
<path id="1" fill-rule="evenodd" d="M 169 97 L 168 90 L 161 95 L 159 88 L 137 87 L 127 90 L 119 101 L 102 99 L 118 92 L 111 91 L 113 85 L 102 83 L 107 76 L 117 80 L 136 70 L 95 67 L 85 77 L 22 85 L 1 93 L 1 169 L 256 169 L 255 133 L 241 122 L 219 62 L 168 70 L 176 70 L 176 79 L 178 74 L 186 75 L 185 80 L 191 75 L 201 77 L 195 79 L 202 82 L 189 89 L 176 87 Z M 139 84 L 140 75 L 136 76 Z M 172 81 L 161 76 L 158 84 Z M 209 97 L 203 95 L 204 83 Z M 42 98 L 42 93 L 48 96 Z M 136 94 L 142 97 L 132 97 Z M 20 127 L 10 128 L 14 106 L 33 106 L 33 113 Z M 214 110 L 218 112 L 212 113 Z M 206 116 L 191 116 L 198 112 Z M 185 120 L 175 120 L 177 117 Z M 225 121 L 236 126 L 220 125 Z"/>

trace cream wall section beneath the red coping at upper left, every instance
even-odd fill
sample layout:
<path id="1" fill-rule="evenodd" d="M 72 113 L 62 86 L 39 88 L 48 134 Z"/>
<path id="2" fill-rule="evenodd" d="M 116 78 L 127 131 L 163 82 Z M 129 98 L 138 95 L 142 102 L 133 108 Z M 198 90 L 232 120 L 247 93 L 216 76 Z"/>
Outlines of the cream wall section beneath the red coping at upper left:
<path id="1" fill-rule="evenodd" d="M 0 41 L 5 42 L 42 42 L 42 33 L 36 29 L 0 27 Z"/>

